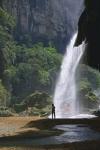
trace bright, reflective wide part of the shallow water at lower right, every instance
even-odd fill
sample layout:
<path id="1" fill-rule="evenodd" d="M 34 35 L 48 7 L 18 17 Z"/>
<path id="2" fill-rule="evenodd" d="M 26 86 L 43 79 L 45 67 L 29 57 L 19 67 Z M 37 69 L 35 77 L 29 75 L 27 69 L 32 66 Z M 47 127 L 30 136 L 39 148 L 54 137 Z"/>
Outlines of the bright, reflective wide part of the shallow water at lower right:
<path id="1" fill-rule="evenodd" d="M 60 125 L 57 129 L 65 132 L 57 137 L 61 143 L 90 141 L 100 139 L 100 133 L 84 125 Z"/>

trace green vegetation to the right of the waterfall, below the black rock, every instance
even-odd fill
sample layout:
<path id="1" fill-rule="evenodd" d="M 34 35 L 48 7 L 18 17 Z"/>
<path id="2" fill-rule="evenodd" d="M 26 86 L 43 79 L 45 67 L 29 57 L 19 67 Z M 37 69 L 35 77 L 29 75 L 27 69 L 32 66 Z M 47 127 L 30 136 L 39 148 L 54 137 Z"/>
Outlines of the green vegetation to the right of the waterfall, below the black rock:
<path id="1" fill-rule="evenodd" d="M 80 65 L 80 80 L 78 95 L 81 104 L 85 106 L 83 112 L 96 109 L 100 103 L 97 91 L 100 89 L 100 72 L 86 65 Z"/>

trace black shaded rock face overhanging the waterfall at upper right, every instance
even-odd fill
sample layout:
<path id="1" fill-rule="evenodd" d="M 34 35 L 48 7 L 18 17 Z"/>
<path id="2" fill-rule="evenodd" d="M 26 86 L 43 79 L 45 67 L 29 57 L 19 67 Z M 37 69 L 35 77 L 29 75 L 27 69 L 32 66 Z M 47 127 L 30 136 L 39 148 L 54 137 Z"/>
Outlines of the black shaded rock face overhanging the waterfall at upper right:
<path id="1" fill-rule="evenodd" d="M 100 0 L 85 0 L 85 10 L 79 20 L 77 45 L 86 39 L 87 63 L 98 68 L 100 64 Z"/>

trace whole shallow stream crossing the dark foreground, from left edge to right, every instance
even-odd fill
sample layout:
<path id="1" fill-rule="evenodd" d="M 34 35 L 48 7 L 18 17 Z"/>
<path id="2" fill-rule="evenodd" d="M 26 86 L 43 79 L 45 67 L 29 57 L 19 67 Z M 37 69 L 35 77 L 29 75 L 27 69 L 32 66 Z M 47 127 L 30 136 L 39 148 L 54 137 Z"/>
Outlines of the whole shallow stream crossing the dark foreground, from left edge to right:
<path id="1" fill-rule="evenodd" d="M 31 148 L 31 146 L 100 140 L 100 132 L 97 132 L 91 129 L 89 126 L 85 125 L 57 125 L 54 127 L 54 129 L 59 129 L 64 132 L 59 136 L 52 136 L 47 138 L 25 138 L 17 141 L 3 141 L 4 143 L 0 142 L 0 145 L 10 146 L 6 147 L 4 150 L 34 150 L 34 148 Z M 13 147 L 13 145 L 18 147 Z"/>

